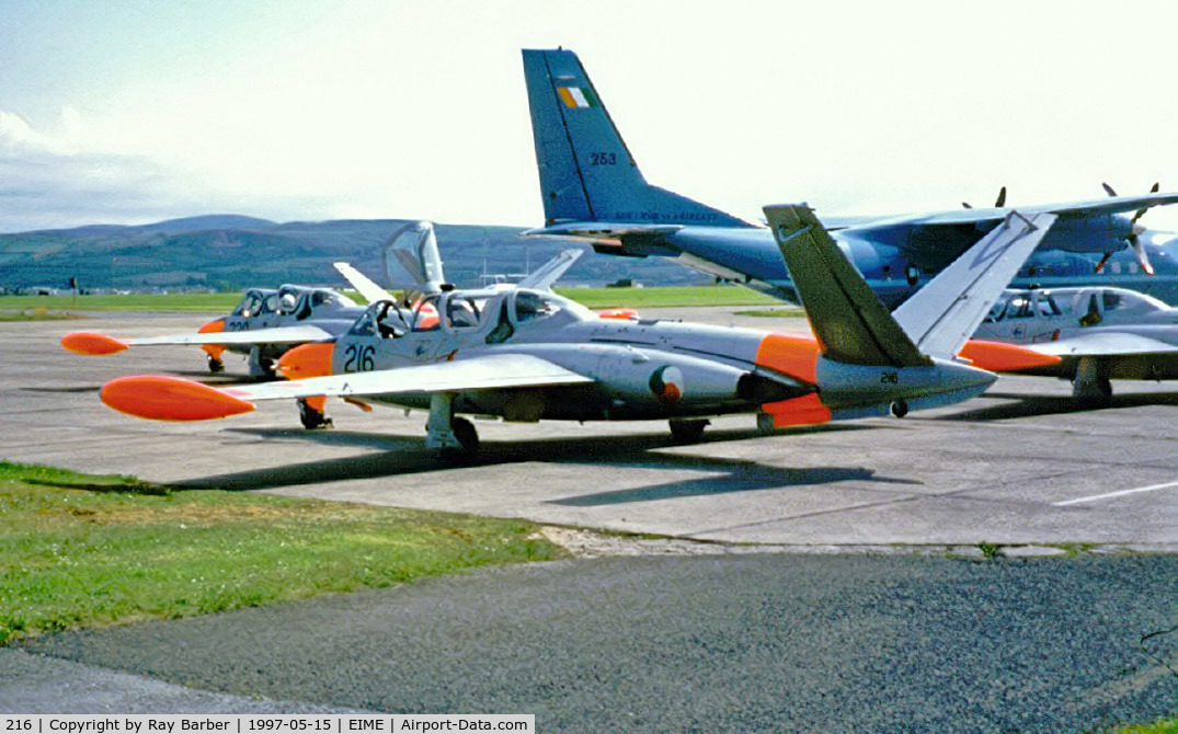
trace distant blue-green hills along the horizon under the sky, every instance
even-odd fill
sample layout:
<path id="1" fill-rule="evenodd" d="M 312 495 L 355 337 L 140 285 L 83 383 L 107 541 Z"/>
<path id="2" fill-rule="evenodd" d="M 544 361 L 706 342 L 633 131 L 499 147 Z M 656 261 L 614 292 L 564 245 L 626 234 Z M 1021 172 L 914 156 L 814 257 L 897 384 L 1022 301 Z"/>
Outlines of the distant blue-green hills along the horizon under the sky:
<path id="1" fill-rule="evenodd" d="M 382 282 L 384 243 L 408 221 L 276 223 L 239 214 L 209 214 L 135 226 L 90 225 L 0 234 L 0 285 L 64 285 L 72 277 L 82 287 L 343 285 L 331 266 L 337 260 L 348 260 Z M 525 239 L 519 231 L 502 226 L 436 225 L 446 277 L 458 285 L 478 285 L 483 273 L 523 273 L 570 246 Z M 569 270 L 562 283 L 601 285 L 618 278 L 650 285 L 703 279 L 666 259 L 587 256 Z"/>

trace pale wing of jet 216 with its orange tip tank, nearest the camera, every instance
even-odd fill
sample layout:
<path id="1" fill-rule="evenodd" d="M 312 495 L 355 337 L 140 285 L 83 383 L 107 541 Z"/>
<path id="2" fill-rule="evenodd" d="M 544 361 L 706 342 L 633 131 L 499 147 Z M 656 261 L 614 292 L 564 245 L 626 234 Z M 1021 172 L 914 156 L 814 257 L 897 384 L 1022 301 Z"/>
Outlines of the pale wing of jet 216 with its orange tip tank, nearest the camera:
<path id="1" fill-rule="evenodd" d="M 316 396 L 363 397 L 502 388 L 589 384 L 594 379 L 531 355 L 487 355 L 373 372 L 217 389 L 159 375 L 120 377 L 102 386 L 102 402 L 140 418 L 204 421 L 253 410 L 252 401 Z"/>

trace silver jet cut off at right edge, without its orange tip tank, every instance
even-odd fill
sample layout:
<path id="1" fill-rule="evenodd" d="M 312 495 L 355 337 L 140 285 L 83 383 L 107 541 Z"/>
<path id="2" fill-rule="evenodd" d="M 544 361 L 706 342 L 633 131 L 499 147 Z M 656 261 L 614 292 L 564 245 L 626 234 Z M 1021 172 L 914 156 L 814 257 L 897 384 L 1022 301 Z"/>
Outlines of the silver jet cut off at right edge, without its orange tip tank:
<path id="1" fill-rule="evenodd" d="M 977 336 L 1060 357 L 1025 371 L 1071 378 L 1090 404 L 1108 402 L 1112 379 L 1178 379 L 1178 309 L 1125 289 L 1007 291 Z"/>

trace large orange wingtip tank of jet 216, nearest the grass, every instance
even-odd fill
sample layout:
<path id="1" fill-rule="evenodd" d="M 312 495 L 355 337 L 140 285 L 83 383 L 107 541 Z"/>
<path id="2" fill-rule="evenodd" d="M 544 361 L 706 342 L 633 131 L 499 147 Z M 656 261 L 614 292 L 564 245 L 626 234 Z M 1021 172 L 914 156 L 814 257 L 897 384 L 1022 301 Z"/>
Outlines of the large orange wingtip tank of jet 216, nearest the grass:
<path id="1" fill-rule="evenodd" d="M 112 379 L 99 397 L 119 412 L 152 421 L 209 421 L 253 410 L 252 403 L 216 388 L 163 375 Z"/>

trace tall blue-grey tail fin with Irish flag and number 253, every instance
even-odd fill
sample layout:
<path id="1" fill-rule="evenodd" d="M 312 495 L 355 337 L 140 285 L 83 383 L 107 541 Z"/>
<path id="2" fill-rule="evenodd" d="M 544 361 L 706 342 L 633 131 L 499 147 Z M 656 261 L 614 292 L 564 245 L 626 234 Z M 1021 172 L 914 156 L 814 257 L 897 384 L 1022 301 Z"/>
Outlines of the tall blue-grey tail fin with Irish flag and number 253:
<path id="1" fill-rule="evenodd" d="M 547 224 L 753 226 L 648 184 L 575 53 L 524 49 L 523 70 Z"/>

